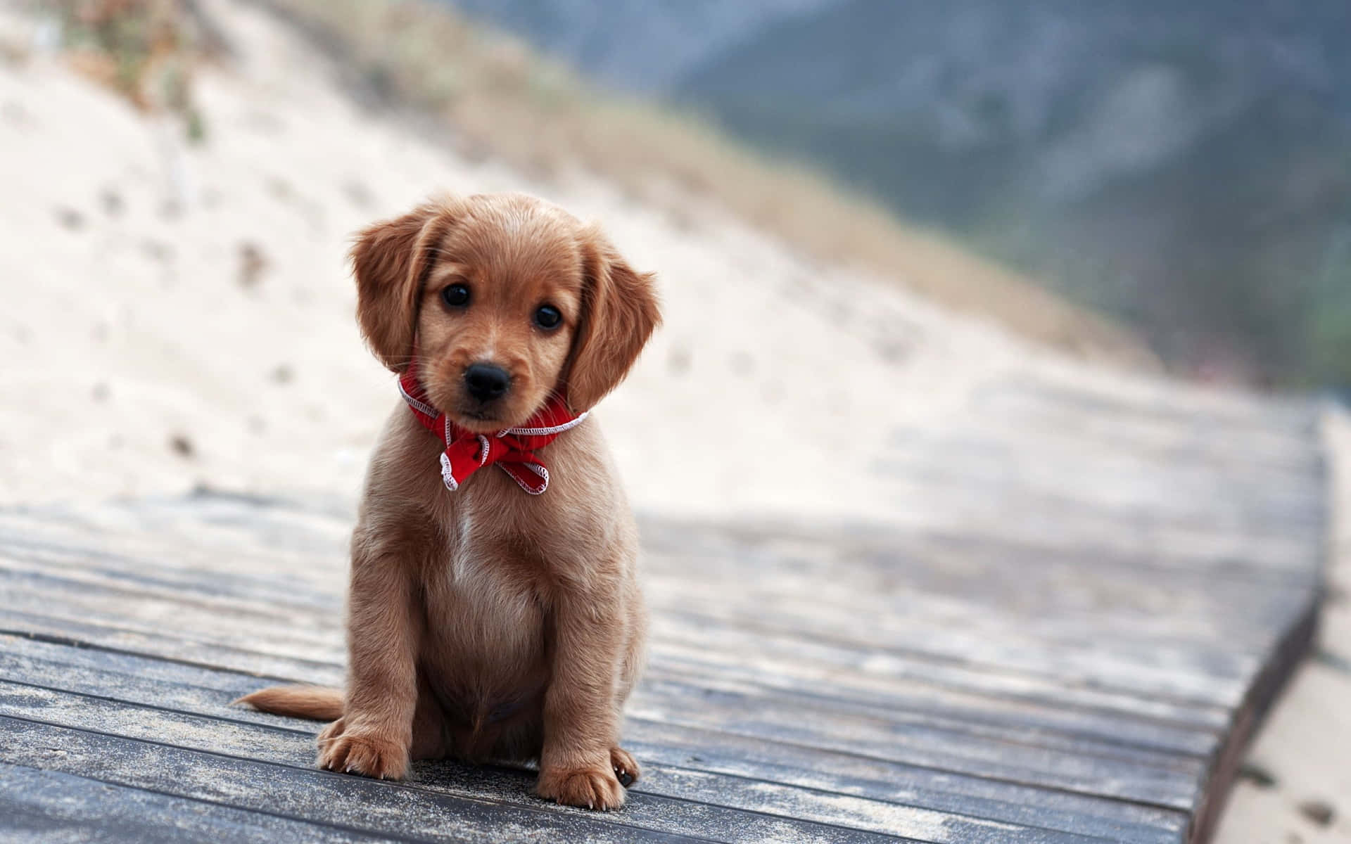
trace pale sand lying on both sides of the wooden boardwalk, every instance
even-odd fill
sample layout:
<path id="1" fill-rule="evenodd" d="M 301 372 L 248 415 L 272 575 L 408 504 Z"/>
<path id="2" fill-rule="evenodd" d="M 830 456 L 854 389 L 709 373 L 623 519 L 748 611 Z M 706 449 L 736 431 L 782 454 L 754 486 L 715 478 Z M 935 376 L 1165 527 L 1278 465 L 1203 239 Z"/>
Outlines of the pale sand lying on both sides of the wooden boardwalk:
<path id="1" fill-rule="evenodd" d="M 658 273 L 666 325 L 597 411 L 640 510 L 890 519 L 894 496 L 865 467 L 898 427 L 942 428 L 1015 370 L 1119 378 L 716 208 L 673 215 L 592 174 L 465 161 L 363 111 L 265 14 L 205 5 L 238 55 L 197 78 L 200 146 L 0 5 L 5 54 L 28 54 L 0 62 L 0 504 L 199 485 L 354 498 L 397 397 L 353 320 L 349 238 L 439 190 L 544 196 Z M 1329 428 L 1351 454 L 1351 424 Z M 1325 640 L 1351 655 L 1346 612 L 1329 609 Z M 1348 802 L 1348 702 L 1344 667 L 1301 671 L 1254 754 L 1278 783 L 1240 786 L 1223 841 L 1346 840 L 1344 813 L 1319 826 L 1296 806 Z"/>

